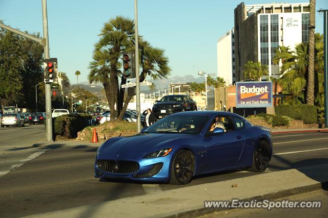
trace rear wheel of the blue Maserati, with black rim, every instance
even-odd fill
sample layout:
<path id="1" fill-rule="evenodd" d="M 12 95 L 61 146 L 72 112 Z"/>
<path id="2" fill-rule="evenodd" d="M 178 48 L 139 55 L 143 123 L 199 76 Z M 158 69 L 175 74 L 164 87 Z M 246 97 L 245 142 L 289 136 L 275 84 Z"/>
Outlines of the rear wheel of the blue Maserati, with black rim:
<path id="1" fill-rule="evenodd" d="M 269 144 L 267 141 L 259 141 L 254 149 L 253 153 L 253 164 L 248 171 L 252 172 L 263 172 L 269 165 L 270 152 Z"/>

